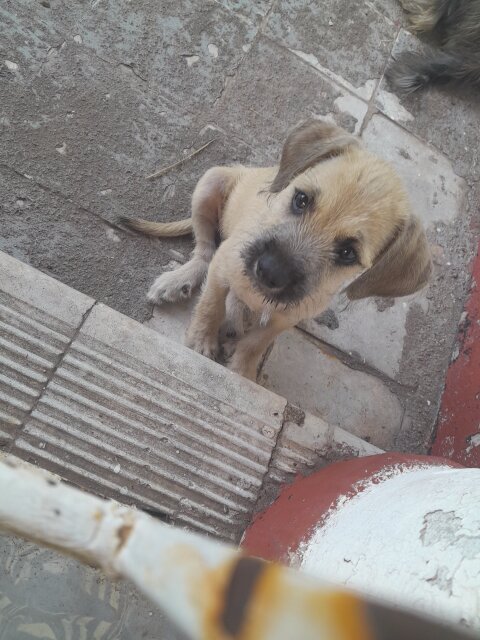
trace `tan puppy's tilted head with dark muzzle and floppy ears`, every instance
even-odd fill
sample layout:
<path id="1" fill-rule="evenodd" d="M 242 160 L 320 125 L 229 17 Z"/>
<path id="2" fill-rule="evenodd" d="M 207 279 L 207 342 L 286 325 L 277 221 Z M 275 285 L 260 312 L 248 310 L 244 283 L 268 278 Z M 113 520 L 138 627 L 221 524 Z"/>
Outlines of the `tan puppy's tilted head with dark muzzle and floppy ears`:
<path id="1" fill-rule="evenodd" d="M 352 300 L 423 287 L 431 261 L 400 179 L 331 124 L 297 126 L 283 148 L 258 235 L 243 252 L 260 295 L 301 304 L 351 281 Z"/>

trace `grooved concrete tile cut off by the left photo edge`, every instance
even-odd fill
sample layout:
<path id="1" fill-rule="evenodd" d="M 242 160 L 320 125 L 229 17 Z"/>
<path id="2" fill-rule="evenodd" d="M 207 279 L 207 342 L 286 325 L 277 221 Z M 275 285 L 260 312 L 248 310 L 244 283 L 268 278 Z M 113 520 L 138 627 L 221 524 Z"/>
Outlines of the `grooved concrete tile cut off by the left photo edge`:
<path id="1" fill-rule="evenodd" d="M 0 446 L 32 410 L 94 300 L 0 252 Z"/>

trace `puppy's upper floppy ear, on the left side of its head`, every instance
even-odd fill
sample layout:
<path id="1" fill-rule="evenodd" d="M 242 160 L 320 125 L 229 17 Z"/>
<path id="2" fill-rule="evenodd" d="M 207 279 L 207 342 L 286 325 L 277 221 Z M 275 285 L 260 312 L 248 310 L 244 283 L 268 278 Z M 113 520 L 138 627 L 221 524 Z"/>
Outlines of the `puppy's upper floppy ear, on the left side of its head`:
<path id="1" fill-rule="evenodd" d="M 270 191 L 278 193 L 308 168 L 320 160 L 343 153 L 348 147 L 359 145 L 358 138 L 327 122 L 307 120 L 297 125 L 283 145 L 280 168 Z"/>

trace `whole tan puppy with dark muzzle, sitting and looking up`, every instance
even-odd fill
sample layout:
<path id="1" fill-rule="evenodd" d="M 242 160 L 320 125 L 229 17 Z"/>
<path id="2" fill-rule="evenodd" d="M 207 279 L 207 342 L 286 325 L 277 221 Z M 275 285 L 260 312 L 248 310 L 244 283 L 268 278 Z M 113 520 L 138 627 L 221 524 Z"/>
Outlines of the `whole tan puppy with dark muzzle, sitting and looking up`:
<path id="1" fill-rule="evenodd" d="M 318 315 L 346 285 L 351 300 L 404 296 L 431 270 L 425 233 L 394 170 L 318 120 L 290 133 L 280 166 L 207 171 L 190 220 L 123 222 L 157 236 L 193 230 L 192 259 L 162 274 L 148 298 L 182 300 L 205 281 L 187 345 L 217 358 L 227 319 L 236 334 L 229 367 L 251 379 L 280 332 Z"/>

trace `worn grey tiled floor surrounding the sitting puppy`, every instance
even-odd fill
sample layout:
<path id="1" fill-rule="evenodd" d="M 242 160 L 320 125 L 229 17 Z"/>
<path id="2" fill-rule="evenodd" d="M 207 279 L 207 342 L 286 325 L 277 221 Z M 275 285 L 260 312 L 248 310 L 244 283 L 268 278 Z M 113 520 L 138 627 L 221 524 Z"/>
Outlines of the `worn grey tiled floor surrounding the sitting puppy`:
<path id="1" fill-rule="evenodd" d="M 118 215 L 184 216 L 208 167 L 275 162 L 305 117 L 356 132 L 398 168 L 427 225 L 431 285 L 386 303 L 334 301 L 330 322 L 283 339 L 302 354 L 289 352 L 296 384 L 278 349 L 263 383 L 298 403 L 305 376 L 319 400 L 305 408 L 382 446 L 428 450 L 470 286 L 480 109 L 478 96 L 389 91 L 391 54 L 418 46 L 396 0 L 6 0 L 1 11 L 0 249 L 160 331 L 168 322 L 145 292 L 191 243 L 127 233 Z"/>

